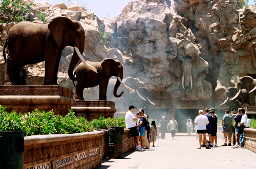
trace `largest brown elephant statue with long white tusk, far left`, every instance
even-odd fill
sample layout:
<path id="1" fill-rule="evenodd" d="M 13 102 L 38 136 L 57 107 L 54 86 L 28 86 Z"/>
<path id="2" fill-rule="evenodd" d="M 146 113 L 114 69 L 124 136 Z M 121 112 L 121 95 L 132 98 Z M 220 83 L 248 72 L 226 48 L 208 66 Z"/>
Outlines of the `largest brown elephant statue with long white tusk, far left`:
<path id="1" fill-rule="evenodd" d="M 84 50 L 84 38 L 81 24 L 63 16 L 54 17 L 47 24 L 29 21 L 17 23 L 8 32 L 4 44 L 5 85 L 20 85 L 20 67 L 41 61 L 45 61 L 44 85 L 58 85 L 57 73 L 61 52 L 68 45 L 74 47 L 74 54 L 68 71 L 71 80 L 76 80 L 73 71 L 79 58 L 90 69 L 97 72 L 95 68 L 88 65 L 81 55 Z M 5 49 L 7 46 L 9 53 L 6 58 Z"/>

